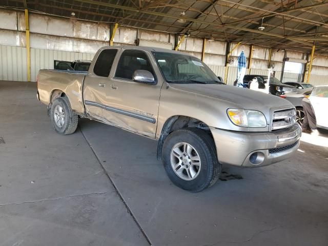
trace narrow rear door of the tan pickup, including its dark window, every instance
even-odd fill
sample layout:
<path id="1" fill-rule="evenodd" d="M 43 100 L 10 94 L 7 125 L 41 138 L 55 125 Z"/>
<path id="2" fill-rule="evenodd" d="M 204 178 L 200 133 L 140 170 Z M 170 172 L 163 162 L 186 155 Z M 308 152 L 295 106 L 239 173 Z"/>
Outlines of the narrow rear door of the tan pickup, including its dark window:
<path id="1" fill-rule="evenodd" d="M 117 49 L 105 49 L 98 52 L 95 64 L 86 76 L 83 88 L 83 100 L 89 117 L 104 121 L 106 92 L 110 85 L 109 74 Z"/>

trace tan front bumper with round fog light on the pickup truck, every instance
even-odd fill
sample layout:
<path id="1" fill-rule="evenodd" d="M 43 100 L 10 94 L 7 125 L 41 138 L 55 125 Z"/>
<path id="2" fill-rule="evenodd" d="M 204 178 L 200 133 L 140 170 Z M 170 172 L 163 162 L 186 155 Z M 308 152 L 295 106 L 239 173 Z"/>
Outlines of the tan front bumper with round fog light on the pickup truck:
<path id="1" fill-rule="evenodd" d="M 262 167 L 289 158 L 299 147 L 301 128 L 272 132 L 237 132 L 210 128 L 218 160 L 238 167 Z"/>

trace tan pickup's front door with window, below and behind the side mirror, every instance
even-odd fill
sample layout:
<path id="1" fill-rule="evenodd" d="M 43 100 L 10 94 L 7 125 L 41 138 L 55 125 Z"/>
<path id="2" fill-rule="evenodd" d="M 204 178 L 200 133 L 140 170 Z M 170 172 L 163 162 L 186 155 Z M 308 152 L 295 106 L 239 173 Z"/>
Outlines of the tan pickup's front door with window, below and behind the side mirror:
<path id="1" fill-rule="evenodd" d="M 155 138 L 161 83 L 142 84 L 132 80 L 135 70 L 156 74 L 146 52 L 122 52 L 106 90 L 104 117 L 121 128 Z"/>

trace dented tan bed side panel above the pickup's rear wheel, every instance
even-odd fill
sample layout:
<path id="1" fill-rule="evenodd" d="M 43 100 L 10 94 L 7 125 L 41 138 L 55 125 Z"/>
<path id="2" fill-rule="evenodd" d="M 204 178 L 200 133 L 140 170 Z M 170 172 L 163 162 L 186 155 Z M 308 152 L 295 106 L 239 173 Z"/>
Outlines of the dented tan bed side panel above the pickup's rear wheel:
<path id="1" fill-rule="evenodd" d="M 70 100 L 72 110 L 84 114 L 82 98 L 83 81 L 88 72 L 42 69 L 39 71 L 37 87 L 40 101 L 49 105 L 51 97 L 61 91 Z"/>

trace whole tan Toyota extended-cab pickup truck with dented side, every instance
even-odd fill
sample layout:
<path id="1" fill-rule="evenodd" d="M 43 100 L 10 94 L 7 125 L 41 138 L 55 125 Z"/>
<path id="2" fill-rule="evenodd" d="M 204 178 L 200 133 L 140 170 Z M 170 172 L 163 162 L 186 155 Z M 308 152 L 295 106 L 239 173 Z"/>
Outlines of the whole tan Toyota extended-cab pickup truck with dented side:
<path id="1" fill-rule="evenodd" d="M 168 176 L 192 192 L 213 185 L 221 165 L 288 158 L 301 135 L 289 101 L 224 85 L 200 59 L 158 48 L 101 48 L 86 73 L 40 70 L 37 98 L 59 134 L 86 117 L 158 140 Z"/>

